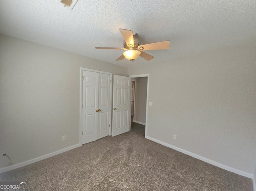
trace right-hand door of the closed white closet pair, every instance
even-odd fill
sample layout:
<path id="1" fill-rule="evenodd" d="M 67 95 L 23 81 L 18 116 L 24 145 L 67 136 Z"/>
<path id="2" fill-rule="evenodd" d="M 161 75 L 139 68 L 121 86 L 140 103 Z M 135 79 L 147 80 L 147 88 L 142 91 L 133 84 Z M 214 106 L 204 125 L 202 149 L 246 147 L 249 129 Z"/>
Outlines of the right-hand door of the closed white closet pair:
<path id="1" fill-rule="evenodd" d="M 110 126 L 110 74 L 101 74 L 99 79 L 98 139 L 109 134 Z"/>

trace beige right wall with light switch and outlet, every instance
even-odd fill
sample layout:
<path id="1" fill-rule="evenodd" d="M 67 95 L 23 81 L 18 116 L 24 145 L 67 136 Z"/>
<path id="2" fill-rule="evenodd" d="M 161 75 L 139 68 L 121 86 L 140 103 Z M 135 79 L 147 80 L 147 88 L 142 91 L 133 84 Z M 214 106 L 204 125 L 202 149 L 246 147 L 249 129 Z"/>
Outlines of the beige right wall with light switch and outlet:
<path id="1" fill-rule="evenodd" d="M 128 75 L 150 74 L 147 135 L 252 175 L 255 53 L 255 44 L 243 44 L 172 62 L 134 62 Z"/>

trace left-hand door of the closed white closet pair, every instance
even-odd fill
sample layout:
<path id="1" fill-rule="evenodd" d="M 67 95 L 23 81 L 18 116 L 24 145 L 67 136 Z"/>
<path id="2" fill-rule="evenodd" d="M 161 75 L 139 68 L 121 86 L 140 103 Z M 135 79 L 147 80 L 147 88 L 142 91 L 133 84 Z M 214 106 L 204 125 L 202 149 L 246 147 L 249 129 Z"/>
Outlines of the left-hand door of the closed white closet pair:
<path id="1" fill-rule="evenodd" d="M 99 73 L 83 71 L 82 144 L 98 139 Z"/>

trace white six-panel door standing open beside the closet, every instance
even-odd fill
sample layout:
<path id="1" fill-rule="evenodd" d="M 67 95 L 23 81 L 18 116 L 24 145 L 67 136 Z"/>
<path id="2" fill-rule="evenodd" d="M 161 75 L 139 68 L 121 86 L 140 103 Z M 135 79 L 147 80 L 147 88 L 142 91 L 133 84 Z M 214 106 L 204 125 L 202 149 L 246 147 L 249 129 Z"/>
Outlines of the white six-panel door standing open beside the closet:
<path id="1" fill-rule="evenodd" d="M 130 130 L 131 78 L 114 75 L 112 136 Z"/>

